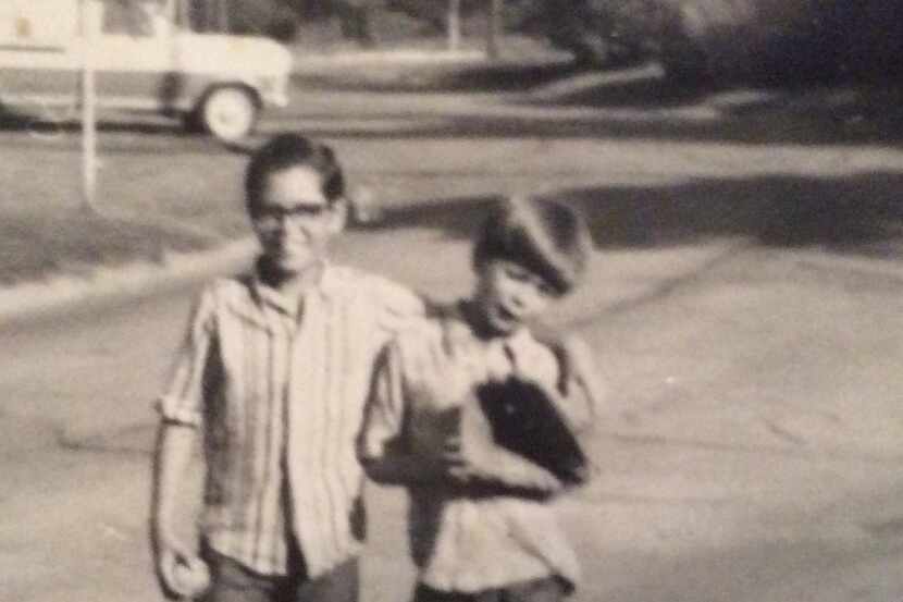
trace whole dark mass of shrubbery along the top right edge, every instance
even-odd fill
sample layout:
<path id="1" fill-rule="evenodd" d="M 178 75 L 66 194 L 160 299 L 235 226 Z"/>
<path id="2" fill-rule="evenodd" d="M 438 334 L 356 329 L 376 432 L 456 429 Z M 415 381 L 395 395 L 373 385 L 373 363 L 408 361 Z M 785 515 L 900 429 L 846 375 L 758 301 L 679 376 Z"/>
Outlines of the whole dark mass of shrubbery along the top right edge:
<path id="1" fill-rule="evenodd" d="M 903 0 L 510 0 L 506 23 L 598 66 L 658 58 L 684 81 L 903 74 Z"/>

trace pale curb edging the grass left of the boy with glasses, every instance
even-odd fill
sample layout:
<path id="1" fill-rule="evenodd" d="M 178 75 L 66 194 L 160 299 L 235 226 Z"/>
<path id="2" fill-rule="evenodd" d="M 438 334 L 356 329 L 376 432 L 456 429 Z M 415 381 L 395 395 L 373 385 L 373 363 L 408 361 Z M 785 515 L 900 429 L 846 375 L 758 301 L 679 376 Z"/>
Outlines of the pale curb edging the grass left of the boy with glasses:
<path id="1" fill-rule="evenodd" d="M 235 270 L 257 251 L 252 236 L 200 253 L 164 255 L 159 263 L 96 268 L 87 277 L 60 275 L 0 288 L 0 324 L 64 310 L 101 298 L 138 296 Z"/>

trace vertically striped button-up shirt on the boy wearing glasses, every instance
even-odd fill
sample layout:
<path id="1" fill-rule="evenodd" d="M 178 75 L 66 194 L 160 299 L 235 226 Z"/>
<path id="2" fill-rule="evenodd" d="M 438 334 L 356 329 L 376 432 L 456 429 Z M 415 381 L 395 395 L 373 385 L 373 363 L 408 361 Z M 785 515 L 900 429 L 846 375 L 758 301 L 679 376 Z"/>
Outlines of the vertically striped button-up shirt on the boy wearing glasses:
<path id="1" fill-rule="evenodd" d="M 201 530 L 213 550 L 283 575 L 292 533 L 311 577 L 359 552 L 355 440 L 373 359 L 421 312 L 406 288 L 333 266 L 300 304 L 257 274 L 201 293 L 159 408 L 203 429 Z"/>

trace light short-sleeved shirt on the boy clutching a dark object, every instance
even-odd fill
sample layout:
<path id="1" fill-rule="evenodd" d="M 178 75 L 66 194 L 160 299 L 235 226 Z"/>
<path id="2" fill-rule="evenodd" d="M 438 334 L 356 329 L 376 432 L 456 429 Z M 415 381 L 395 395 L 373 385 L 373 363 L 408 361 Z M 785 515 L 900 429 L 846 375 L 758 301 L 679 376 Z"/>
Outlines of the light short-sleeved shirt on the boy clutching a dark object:
<path id="1" fill-rule="evenodd" d="M 426 457 L 443 447 L 449 433 L 446 391 L 462 388 L 448 378 L 438 379 L 434 384 L 445 391 L 431 394 L 422 389 L 419 372 L 425 366 L 437 369 L 436 358 L 452 361 L 443 351 L 449 340 L 458 349 L 455 360 L 469 368 L 467 373 L 443 373 L 465 379 L 463 389 L 467 383 L 475 389 L 485 379 L 504 380 L 515 371 L 549 391 L 556 388 L 558 363 L 527 329 L 507 337 L 478 340 L 460 316 L 422 320 L 386 348 L 379 365 L 359 442 L 362 458 Z M 438 370 L 443 371 L 441 366 Z M 567 398 L 558 398 L 571 425 L 581 429 L 590 426 L 594 414 L 584 393 L 574 386 Z M 455 405 L 473 400 L 466 396 Z M 421 582 L 443 591 L 478 592 L 549 575 L 577 581 L 577 557 L 557 524 L 556 501 L 514 494 L 471 496 L 466 487 L 441 483 L 412 484 L 408 491 L 410 544 Z"/>

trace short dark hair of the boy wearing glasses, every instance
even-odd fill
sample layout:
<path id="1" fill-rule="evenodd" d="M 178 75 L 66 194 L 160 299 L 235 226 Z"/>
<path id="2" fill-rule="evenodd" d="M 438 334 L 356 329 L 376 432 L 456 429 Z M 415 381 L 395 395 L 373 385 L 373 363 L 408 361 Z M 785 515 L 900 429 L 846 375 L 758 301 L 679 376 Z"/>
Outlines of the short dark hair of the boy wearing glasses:
<path id="1" fill-rule="evenodd" d="M 253 152 L 245 172 L 249 214 L 257 213 L 270 175 L 294 167 L 309 167 L 320 175 L 323 196 L 330 205 L 345 196 L 345 175 L 332 148 L 300 134 L 277 134 Z"/>

